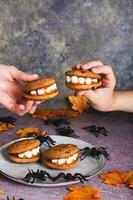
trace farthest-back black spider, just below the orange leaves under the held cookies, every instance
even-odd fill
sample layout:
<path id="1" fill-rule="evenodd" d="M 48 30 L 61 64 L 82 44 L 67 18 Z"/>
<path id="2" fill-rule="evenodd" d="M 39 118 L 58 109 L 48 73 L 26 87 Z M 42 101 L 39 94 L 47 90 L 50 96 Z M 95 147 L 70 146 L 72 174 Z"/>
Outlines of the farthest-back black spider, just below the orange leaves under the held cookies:
<path id="1" fill-rule="evenodd" d="M 56 127 L 59 127 L 61 124 L 69 125 L 70 122 L 68 122 L 65 118 L 51 118 L 48 120 L 45 120 L 44 123 L 46 125 L 52 124 Z"/>

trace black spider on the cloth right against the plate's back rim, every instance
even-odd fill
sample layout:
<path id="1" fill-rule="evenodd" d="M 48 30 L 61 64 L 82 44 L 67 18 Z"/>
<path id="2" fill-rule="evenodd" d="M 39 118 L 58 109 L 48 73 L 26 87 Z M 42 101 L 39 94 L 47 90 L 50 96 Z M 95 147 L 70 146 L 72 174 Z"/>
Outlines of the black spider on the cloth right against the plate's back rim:
<path id="1" fill-rule="evenodd" d="M 61 128 L 56 128 L 58 135 L 63 135 L 67 137 L 73 137 L 73 138 L 78 138 L 79 136 L 74 133 L 74 130 L 71 129 L 69 126 L 68 127 L 61 127 Z"/>

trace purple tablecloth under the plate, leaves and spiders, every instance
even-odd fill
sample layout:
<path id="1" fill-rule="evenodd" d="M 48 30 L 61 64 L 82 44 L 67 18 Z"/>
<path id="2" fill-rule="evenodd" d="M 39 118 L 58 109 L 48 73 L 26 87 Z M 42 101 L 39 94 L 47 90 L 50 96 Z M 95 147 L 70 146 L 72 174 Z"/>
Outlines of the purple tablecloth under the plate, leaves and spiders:
<path id="1" fill-rule="evenodd" d="M 11 115 L 11 113 L 1 110 L 0 116 Z M 13 115 L 12 115 L 13 116 Z M 15 115 L 14 115 L 15 116 Z M 16 116 L 15 116 L 16 117 Z M 80 136 L 80 139 L 93 144 L 96 147 L 109 147 L 108 152 L 111 154 L 111 160 L 106 162 L 102 171 L 108 172 L 112 169 L 133 170 L 133 114 L 122 112 L 90 112 L 81 114 L 77 118 L 69 120 L 71 128 Z M 108 131 L 108 136 L 100 135 L 95 137 L 87 133 L 81 127 L 95 124 L 104 126 Z M 48 134 L 56 134 L 53 125 L 46 126 L 39 119 L 32 119 L 30 116 L 17 117 L 16 128 L 8 132 L 0 133 L 0 142 L 7 143 L 17 138 L 15 131 L 22 127 L 39 127 L 47 130 Z M 85 184 L 90 184 L 101 190 L 101 196 L 106 200 L 133 200 L 133 190 L 126 186 L 114 187 L 106 185 L 96 175 Z M 82 185 L 82 184 L 79 184 Z M 3 175 L 0 175 L 0 188 L 4 189 L 4 195 L 0 200 L 6 200 L 7 195 L 11 198 L 15 196 L 16 200 L 62 200 L 63 195 L 67 193 L 65 187 L 56 188 L 39 188 L 25 186 L 13 182 Z"/>

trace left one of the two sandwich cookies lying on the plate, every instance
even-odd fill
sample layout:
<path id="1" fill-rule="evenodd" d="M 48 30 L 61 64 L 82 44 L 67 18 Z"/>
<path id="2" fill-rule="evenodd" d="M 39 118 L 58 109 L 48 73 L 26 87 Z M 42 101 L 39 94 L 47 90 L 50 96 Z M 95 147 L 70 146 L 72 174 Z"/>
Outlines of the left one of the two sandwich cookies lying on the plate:
<path id="1" fill-rule="evenodd" d="M 14 142 L 7 148 L 9 159 L 16 163 L 33 163 L 40 158 L 40 141 L 25 139 Z"/>

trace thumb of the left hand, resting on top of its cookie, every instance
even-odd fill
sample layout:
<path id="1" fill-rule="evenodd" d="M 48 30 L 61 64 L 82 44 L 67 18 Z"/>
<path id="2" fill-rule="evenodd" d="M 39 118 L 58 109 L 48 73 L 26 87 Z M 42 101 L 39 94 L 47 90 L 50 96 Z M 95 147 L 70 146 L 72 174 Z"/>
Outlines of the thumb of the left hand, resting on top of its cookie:
<path id="1" fill-rule="evenodd" d="M 28 74 L 18 70 L 17 68 L 11 69 L 12 78 L 18 82 L 34 81 L 38 79 L 38 74 Z"/>

